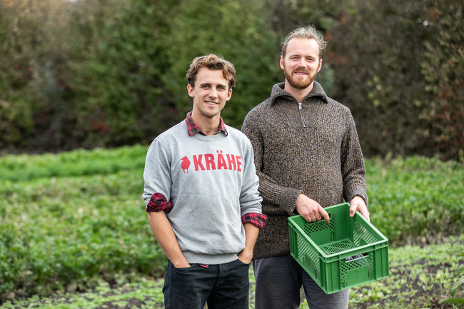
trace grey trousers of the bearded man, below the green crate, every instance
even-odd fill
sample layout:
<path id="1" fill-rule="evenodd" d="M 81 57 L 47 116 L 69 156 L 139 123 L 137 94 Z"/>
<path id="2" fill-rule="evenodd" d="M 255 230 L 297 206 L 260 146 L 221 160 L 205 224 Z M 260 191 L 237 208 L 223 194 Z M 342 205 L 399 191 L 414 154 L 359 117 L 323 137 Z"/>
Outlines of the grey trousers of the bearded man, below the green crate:
<path id="1" fill-rule="evenodd" d="M 310 309 L 347 309 L 349 290 L 326 294 L 291 255 L 253 260 L 255 309 L 298 309 L 303 285 Z"/>

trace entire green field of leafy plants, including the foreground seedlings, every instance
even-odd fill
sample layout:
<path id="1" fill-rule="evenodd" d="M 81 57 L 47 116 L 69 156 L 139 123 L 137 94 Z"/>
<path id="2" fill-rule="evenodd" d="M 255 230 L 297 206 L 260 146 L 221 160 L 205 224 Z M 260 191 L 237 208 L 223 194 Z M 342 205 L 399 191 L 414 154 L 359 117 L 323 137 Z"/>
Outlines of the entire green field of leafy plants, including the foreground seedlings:
<path id="1" fill-rule="evenodd" d="M 2 308 L 160 305 L 162 281 L 147 279 L 162 277 L 166 257 L 141 199 L 146 149 L 0 157 Z M 350 308 L 435 308 L 431 299 L 449 296 L 463 263 L 463 164 L 365 162 L 371 222 L 390 239 L 391 271 L 352 289 Z"/>

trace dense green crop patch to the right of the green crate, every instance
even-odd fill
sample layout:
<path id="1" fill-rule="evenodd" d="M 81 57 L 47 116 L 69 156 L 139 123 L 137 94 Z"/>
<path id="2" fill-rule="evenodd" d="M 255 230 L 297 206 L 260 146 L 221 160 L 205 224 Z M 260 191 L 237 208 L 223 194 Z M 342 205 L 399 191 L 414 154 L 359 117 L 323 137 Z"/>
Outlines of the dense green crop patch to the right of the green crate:
<path id="1" fill-rule="evenodd" d="M 390 243 L 435 242 L 464 233 L 464 166 L 438 158 L 365 161 L 371 222 Z"/>

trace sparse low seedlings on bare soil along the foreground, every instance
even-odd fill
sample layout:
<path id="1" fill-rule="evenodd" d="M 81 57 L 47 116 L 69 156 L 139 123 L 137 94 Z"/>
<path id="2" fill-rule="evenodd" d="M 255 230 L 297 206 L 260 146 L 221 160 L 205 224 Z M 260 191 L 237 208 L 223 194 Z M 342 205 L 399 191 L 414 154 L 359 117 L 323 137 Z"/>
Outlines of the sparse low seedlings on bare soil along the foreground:
<path id="1" fill-rule="evenodd" d="M 453 308 L 438 305 L 449 295 L 455 270 L 464 259 L 455 254 L 464 249 L 464 235 L 449 243 L 403 246 L 390 250 L 390 277 L 350 289 L 349 308 Z M 250 269 L 250 305 L 254 308 L 254 277 Z M 0 308 L 163 308 L 163 280 L 142 278 L 118 288 L 102 284 L 86 293 L 63 293 L 51 298 L 35 296 Z M 461 295 L 462 296 L 462 295 Z M 300 308 L 308 308 L 302 300 Z"/>

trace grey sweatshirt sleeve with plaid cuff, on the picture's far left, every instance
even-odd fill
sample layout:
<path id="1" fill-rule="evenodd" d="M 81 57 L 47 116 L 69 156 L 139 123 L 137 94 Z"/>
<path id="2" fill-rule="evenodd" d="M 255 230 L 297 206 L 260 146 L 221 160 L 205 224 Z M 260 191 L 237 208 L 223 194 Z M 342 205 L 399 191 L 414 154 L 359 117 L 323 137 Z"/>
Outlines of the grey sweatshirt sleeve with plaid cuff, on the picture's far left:
<path id="1" fill-rule="evenodd" d="M 143 200 L 146 211 L 154 211 L 154 203 L 163 197 L 167 205 L 171 200 L 171 157 L 161 143 L 153 141 L 146 153 L 145 170 L 143 171 Z"/>

